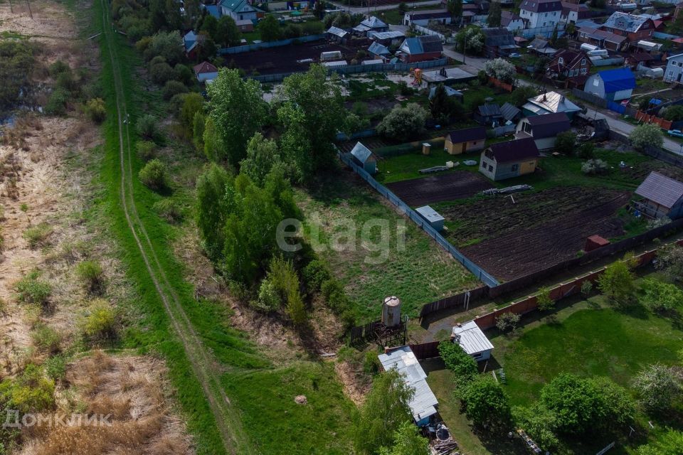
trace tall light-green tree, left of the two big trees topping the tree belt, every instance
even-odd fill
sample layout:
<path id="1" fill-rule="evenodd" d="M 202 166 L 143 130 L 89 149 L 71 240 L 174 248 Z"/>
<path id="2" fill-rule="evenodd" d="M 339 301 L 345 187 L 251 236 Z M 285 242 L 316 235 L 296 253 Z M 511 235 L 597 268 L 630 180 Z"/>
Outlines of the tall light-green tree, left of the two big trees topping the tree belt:
<path id="1" fill-rule="evenodd" d="M 225 158 L 238 166 L 246 156 L 247 141 L 261 129 L 268 114 L 261 85 L 243 80 L 238 70 L 221 68 L 207 91 L 211 97 L 208 115 L 223 142 Z"/>

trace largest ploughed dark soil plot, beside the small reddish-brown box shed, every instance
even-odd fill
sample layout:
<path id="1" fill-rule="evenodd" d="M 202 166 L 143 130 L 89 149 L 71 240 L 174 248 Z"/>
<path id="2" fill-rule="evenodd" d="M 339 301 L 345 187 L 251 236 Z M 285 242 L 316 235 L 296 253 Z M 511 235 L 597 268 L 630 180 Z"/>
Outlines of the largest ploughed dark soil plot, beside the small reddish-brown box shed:
<path id="1" fill-rule="evenodd" d="M 576 257 L 586 237 L 624 234 L 616 218 L 630 194 L 599 188 L 551 188 L 440 210 L 448 240 L 500 279 L 512 279 Z M 468 246 L 469 245 L 469 246 Z"/>

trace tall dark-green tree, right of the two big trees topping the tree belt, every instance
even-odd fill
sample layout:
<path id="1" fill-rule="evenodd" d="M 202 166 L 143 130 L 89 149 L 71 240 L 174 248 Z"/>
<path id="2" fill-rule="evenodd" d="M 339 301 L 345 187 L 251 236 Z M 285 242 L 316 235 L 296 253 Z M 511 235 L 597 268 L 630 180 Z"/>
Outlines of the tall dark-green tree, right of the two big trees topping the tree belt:
<path id="1" fill-rule="evenodd" d="M 277 118 L 285 127 L 282 146 L 303 181 L 334 163 L 332 143 L 346 117 L 344 99 L 334 76 L 312 65 L 306 73 L 286 77 L 282 82 L 282 105 Z"/>

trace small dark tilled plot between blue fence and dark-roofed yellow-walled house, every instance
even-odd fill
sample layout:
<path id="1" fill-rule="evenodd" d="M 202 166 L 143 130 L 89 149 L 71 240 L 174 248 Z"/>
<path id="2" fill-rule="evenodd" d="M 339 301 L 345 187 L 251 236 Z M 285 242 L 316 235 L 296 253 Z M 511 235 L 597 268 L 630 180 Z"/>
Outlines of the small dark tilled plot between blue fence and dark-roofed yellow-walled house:
<path id="1" fill-rule="evenodd" d="M 435 176 L 388 183 L 389 188 L 411 207 L 429 203 L 470 198 L 480 191 L 492 188 L 478 173 L 455 171 Z"/>

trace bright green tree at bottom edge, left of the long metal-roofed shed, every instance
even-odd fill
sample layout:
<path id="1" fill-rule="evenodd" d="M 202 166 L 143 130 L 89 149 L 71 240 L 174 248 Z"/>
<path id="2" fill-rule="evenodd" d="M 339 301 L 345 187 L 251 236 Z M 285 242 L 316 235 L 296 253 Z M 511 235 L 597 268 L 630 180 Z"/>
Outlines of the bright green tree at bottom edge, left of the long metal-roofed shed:
<path id="1" fill-rule="evenodd" d="M 394 432 L 403 422 L 413 419 L 408 401 L 414 393 L 396 370 L 374 377 L 372 388 L 356 415 L 356 454 L 376 454 L 380 447 L 391 446 Z"/>

